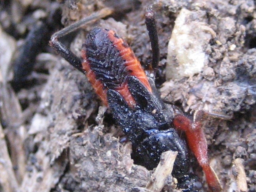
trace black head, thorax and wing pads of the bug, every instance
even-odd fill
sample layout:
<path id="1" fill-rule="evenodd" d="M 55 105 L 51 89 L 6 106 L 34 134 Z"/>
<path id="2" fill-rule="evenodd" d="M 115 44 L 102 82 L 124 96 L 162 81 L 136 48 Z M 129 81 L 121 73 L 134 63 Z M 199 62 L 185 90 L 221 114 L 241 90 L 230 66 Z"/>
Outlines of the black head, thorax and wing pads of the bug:
<path id="1" fill-rule="evenodd" d="M 158 93 L 150 93 L 136 77 L 129 76 L 127 80 L 136 101 L 135 109 L 129 108 L 121 95 L 113 89 L 108 90 L 107 98 L 116 122 L 132 142 L 131 156 L 135 164 L 153 169 L 159 163 L 161 153 L 178 151 L 172 172 L 178 179 L 178 188 L 198 191 L 201 184 L 191 171 L 187 146 L 170 126 L 173 109 L 167 109 Z M 155 90 L 153 79 L 149 78 L 149 82 Z"/>

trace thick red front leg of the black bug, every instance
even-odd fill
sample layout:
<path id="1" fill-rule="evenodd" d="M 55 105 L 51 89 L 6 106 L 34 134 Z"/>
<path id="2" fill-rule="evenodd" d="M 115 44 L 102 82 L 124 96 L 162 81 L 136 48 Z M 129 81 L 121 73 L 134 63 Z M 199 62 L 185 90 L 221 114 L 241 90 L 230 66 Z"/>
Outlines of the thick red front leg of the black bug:
<path id="1" fill-rule="evenodd" d="M 212 191 L 221 191 L 219 179 L 209 164 L 207 143 L 201 121 L 202 116 L 193 122 L 190 118 L 177 114 L 173 119 L 173 124 L 176 128 L 185 131 L 188 146 L 195 154 L 199 165 L 202 166 L 209 188 Z"/>

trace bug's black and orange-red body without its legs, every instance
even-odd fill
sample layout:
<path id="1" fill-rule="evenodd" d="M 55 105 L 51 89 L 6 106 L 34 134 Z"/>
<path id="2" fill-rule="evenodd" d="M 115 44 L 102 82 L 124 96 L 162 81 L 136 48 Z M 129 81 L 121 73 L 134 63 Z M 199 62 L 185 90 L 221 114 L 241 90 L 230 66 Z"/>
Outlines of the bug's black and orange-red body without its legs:
<path id="1" fill-rule="evenodd" d="M 181 188 L 193 190 L 195 176 L 185 143 L 170 128 L 173 111 L 152 93 L 148 78 L 127 43 L 109 29 L 94 28 L 82 48 L 82 66 L 86 75 L 109 106 L 114 118 L 132 142 L 133 157 L 138 164 L 153 169 L 161 153 L 178 151 L 173 175 L 180 183 L 192 180 Z"/>

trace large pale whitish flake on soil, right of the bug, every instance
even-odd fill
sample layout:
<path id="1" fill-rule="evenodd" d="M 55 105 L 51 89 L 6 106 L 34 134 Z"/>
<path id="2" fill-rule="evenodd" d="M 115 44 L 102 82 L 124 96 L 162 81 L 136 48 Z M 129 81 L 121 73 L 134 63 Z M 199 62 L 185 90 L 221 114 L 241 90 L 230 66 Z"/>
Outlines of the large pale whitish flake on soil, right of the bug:
<path id="1" fill-rule="evenodd" d="M 182 9 L 168 43 L 166 78 L 178 79 L 200 73 L 208 63 L 205 50 L 215 36 L 206 23 L 204 11 L 198 14 Z"/>

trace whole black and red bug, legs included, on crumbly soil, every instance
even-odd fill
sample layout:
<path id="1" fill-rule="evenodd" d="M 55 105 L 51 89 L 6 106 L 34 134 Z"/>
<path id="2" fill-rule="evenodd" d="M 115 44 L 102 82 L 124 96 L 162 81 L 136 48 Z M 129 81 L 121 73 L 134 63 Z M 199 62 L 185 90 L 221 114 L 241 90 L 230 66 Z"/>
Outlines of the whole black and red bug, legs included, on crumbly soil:
<path id="1" fill-rule="evenodd" d="M 112 10 L 95 12 L 61 31 L 53 34 L 50 45 L 71 65 L 85 73 L 95 92 L 113 113 L 113 117 L 132 143 L 132 157 L 136 164 L 153 169 L 161 153 L 178 151 L 173 176 L 183 191 L 198 191 L 200 182 L 191 171 L 191 161 L 184 141 L 173 128 L 184 130 L 190 149 L 205 172 L 212 191 L 221 191 L 220 183 L 207 157 L 207 143 L 201 128 L 200 111 L 194 121 L 167 108 L 155 88 L 155 68 L 159 61 L 158 36 L 152 7 L 146 11 L 146 26 L 151 41 L 153 60 L 144 72 L 130 46 L 114 31 L 94 28 L 84 41 L 81 58 L 75 56 L 58 38 L 93 19 L 104 18 Z M 199 183 L 199 184 L 198 184 Z"/>

